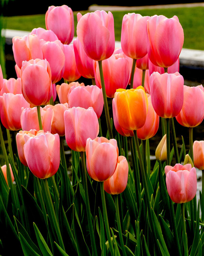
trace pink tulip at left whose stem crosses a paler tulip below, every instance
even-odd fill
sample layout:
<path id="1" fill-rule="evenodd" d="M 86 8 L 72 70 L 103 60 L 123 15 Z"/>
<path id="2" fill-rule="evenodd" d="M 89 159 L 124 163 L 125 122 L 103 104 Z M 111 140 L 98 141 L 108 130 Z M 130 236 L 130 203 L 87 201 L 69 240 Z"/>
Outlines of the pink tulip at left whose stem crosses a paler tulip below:
<path id="1" fill-rule="evenodd" d="M 52 80 L 50 65 L 47 60 L 23 61 L 20 77 L 22 94 L 30 104 L 40 106 L 50 100 Z"/>

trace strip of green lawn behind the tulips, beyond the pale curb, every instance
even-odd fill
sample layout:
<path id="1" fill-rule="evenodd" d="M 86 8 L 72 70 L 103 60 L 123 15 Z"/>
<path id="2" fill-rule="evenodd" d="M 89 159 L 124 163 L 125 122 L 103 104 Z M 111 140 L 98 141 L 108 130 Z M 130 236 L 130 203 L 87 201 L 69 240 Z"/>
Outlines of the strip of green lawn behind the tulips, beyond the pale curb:
<path id="1" fill-rule="evenodd" d="M 82 14 L 88 11 L 82 11 Z M 142 16 L 164 15 L 168 18 L 176 15 L 184 29 L 184 48 L 204 50 L 204 7 L 172 8 L 172 9 L 145 9 L 129 11 L 140 13 Z M 128 11 L 112 11 L 114 17 L 115 40 L 121 39 L 123 16 Z M 77 26 L 77 12 L 74 12 L 75 36 Z M 33 28 L 45 28 L 45 15 L 27 15 L 4 17 L 6 28 L 31 31 Z"/>

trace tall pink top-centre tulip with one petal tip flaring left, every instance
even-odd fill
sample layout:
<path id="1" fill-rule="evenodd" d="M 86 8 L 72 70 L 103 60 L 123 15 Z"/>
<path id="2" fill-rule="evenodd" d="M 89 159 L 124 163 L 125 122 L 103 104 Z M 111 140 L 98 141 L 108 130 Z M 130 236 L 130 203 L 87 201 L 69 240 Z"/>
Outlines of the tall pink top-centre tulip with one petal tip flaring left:
<path id="1" fill-rule="evenodd" d="M 115 48 L 114 20 L 111 12 L 77 14 L 77 37 L 87 55 L 94 60 L 109 58 Z"/>

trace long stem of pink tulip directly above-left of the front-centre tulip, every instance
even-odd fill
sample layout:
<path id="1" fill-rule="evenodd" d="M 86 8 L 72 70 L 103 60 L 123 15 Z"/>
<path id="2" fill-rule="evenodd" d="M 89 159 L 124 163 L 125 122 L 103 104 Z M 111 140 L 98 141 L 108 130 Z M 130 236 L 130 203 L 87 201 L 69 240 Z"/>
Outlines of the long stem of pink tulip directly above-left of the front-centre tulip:
<path id="1" fill-rule="evenodd" d="M 88 194 L 88 185 L 87 185 L 87 169 L 85 164 L 85 152 L 81 152 L 81 162 L 82 162 L 85 203 L 87 208 L 87 217 L 88 217 L 89 231 L 90 231 L 90 237 L 91 237 L 91 245 L 92 245 L 93 255 L 97 256 L 96 243 L 95 243 L 94 231 L 93 231 L 93 225 L 92 225 L 92 219 L 91 219 L 91 209 L 90 209 L 90 203 L 89 203 L 89 194 Z"/>

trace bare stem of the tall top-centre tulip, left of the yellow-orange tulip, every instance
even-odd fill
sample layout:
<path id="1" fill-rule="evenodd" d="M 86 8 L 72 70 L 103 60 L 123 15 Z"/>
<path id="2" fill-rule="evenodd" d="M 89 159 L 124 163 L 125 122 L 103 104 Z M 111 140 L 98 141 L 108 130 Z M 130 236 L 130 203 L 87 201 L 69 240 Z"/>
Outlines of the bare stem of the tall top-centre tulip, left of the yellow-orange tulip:
<path id="1" fill-rule="evenodd" d="M 106 87 L 105 87 L 105 83 L 104 83 L 102 60 L 98 61 L 98 68 L 99 68 L 99 72 L 100 72 L 100 81 L 101 81 L 101 88 L 102 88 L 103 98 L 104 98 L 104 109 L 105 109 L 105 114 L 106 114 L 106 123 L 107 123 L 109 138 L 113 139 L 113 133 L 112 133 L 111 123 L 110 123 L 110 115 L 109 115 L 109 110 L 108 110 L 108 101 L 107 101 L 107 96 L 106 96 Z"/>

